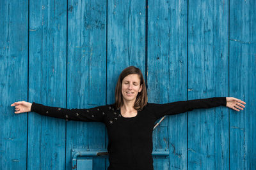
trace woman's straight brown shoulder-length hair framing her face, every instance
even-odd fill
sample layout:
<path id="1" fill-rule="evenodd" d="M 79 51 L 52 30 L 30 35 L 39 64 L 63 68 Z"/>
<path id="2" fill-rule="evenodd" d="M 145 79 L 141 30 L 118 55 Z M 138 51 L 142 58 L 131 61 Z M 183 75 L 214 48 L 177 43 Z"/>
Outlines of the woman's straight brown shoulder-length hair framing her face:
<path id="1" fill-rule="evenodd" d="M 134 66 L 126 67 L 122 71 L 122 73 L 119 75 L 118 81 L 116 83 L 116 89 L 115 89 L 115 106 L 116 108 L 121 108 L 121 106 L 123 106 L 124 104 L 123 96 L 122 96 L 122 81 L 129 74 L 138 74 L 140 78 L 140 85 L 142 84 L 142 90 L 141 92 L 138 93 L 133 108 L 135 110 L 142 110 L 148 101 L 147 89 L 146 89 L 146 84 L 143 78 L 143 74 L 141 73 L 138 67 L 134 67 Z"/>

